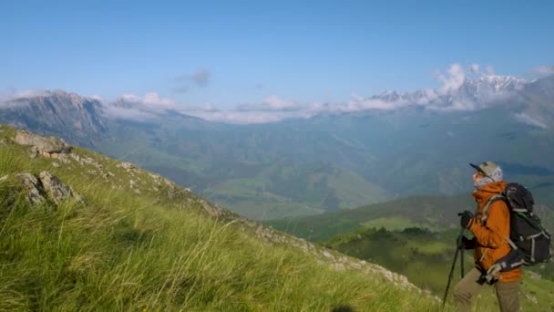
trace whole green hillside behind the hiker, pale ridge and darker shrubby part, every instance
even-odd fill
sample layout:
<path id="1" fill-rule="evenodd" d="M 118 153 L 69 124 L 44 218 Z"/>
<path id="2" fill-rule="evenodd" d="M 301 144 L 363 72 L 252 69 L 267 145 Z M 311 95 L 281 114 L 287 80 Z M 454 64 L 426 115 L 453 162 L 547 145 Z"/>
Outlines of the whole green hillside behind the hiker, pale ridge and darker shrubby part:
<path id="1" fill-rule="evenodd" d="M 415 285 L 442 296 L 454 255 L 452 245 L 457 235 L 457 212 L 470 206 L 471 200 L 468 195 L 416 196 L 349 211 L 323 213 L 301 219 L 276 220 L 268 224 L 282 231 L 320 242 L 346 255 L 383 265 L 407 276 Z M 542 204 L 537 205 L 537 211 L 545 226 L 551 230 L 554 212 Z M 401 232 L 408 227 L 428 228 L 438 233 L 414 235 L 385 231 L 386 229 Z M 382 230 L 376 231 L 374 228 Z M 467 268 L 472 265 L 469 254 L 470 252 L 467 252 Z M 553 269 L 554 264 L 549 263 L 529 270 L 554 281 Z M 548 307 L 554 307 L 554 293 L 544 290 L 550 289 L 554 283 L 527 277 L 524 284 L 527 289 L 526 296 L 538 296 L 539 302 L 547 302 L 550 305 Z M 542 290 L 537 291 L 535 288 Z M 537 308 L 530 300 L 527 301 L 527 305 L 533 307 L 533 310 Z"/>

